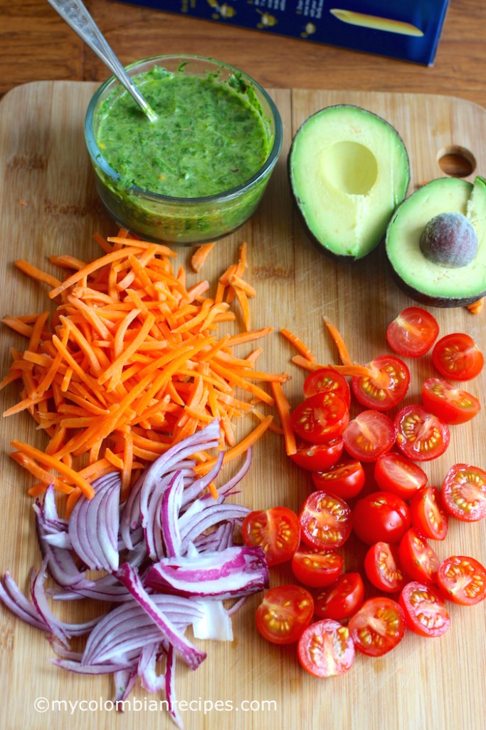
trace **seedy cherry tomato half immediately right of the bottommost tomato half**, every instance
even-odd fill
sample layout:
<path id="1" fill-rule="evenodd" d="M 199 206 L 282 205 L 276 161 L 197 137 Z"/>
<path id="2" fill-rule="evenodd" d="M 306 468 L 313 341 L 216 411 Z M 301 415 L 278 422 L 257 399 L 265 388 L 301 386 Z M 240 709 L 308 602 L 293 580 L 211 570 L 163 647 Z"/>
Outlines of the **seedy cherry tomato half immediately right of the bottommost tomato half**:
<path id="1" fill-rule="evenodd" d="M 383 656 L 394 649 L 406 628 L 403 608 L 386 596 L 365 601 L 348 623 L 355 648 L 367 656 Z"/>

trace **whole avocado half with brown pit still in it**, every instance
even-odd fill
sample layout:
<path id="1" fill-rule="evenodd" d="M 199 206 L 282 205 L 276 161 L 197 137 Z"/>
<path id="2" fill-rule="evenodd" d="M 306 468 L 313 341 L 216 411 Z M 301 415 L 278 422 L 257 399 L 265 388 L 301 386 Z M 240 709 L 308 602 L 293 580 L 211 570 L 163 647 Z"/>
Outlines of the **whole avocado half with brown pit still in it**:
<path id="1" fill-rule="evenodd" d="M 486 180 L 443 177 L 405 200 L 385 239 L 400 288 L 431 307 L 463 307 L 486 294 Z"/>

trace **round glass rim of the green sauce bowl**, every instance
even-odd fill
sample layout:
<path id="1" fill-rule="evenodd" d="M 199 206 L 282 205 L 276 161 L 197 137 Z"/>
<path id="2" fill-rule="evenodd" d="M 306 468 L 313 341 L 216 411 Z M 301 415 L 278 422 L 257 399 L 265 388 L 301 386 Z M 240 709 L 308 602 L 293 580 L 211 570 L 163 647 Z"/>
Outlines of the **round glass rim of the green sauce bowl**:
<path id="1" fill-rule="evenodd" d="M 178 196 L 163 195 L 162 193 L 155 193 L 153 191 L 147 191 L 144 188 L 139 188 L 138 185 L 124 185 L 124 190 L 125 192 L 133 193 L 136 196 L 143 196 L 147 200 L 165 202 L 167 204 L 184 204 L 189 206 L 201 203 L 231 201 L 232 199 L 238 198 L 242 191 L 246 191 L 248 190 L 248 188 L 254 187 L 256 183 L 259 183 L 259 180 L 264 178 L 267 173 L 270 172 L 271 169 L 273 169 L 273 166 L 275 165 L 278 156 L 281 153 L 281 147 L 283 144 L 283 124 L 280 112 L 278 111 L 278 107 L 275 104 L 275 101 L 273 101 L 270 94 L 266 91 L 266 89 L 264 89 L 264 87 L 259 84 L 259 82 L 257 82 L 253 77 L 244 72 L 242 69 L 239 69 L 237 66 L 227 64 L 226 61 L 221 61 L 219 60 L 219 58 L 213 58 L 212 56 L 198 55 L 192 53 L 165 53 L 162 55 L 152 55 L 148 58 L 141 58 L 141 60 L 139 61 L 133 61 L 133 63 L 125 66 L 125 70 L 130 73 L 136 71 L 138 66 L 142 66 L 144 64 L 149 64 L 151 62 L 154 64 L 156 61 L 173 59 L 180 59 L 181 62 L 183 62 L 184 60 L 209 61 L 210 63 L 216 64 L 217 66 L 222 66 L 224 69 L 227 69 L 230 72 L 240 74 L 244 80 L 250 82 L 251 85 L 253 85 L 254 88 L 256 88 L 259 93 L 262 94 L 270 109 L 274 125 L 272 148 L 270 150 L 270 153 L 267 155 L 264 164 L 262 164 L 262 166 L 259 167 L 259 169 L 251 177 L 249 177 L 248 180 L 245 180 L 244 183 L 240 183 L 240 185 L 237 185 L 235 188 L 230 188 L 229 190 L 222 191 L 221 193 L 213 193 L 212 195 L 200 196 L 197 198 L 183 198 Z M 110 85 L 114 85 L 114 88 L 116 88 L 117 84 L 119 84 L 117 78 L 114 76 L 110 76 L 98 87 L 98 89 L 91 97 L 85 115 L 85 143 L 93 163 L 100 167 L 102 172 L 109 176 L 110 179 L 114 181 L 114 183 L 119 183 L 119 185 L 123 185 L 123 177 L 116 170 L 114 170 L 103 157 L 103 152 L 98 147 L 95 139 L 95 134 L 93 133 L 93 121 L 95 118 L 94 112 L 98 104 L 98 100 L 100 99 L 103 92 L 106 91 L 106 89 Z"/>

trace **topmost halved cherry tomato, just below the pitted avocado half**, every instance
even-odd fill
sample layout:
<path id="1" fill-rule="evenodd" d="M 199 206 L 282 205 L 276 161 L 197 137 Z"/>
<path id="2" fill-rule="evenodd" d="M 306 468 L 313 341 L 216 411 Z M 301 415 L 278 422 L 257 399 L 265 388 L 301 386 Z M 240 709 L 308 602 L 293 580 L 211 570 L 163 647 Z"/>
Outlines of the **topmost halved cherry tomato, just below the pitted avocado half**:
<path id="1" fill-rule="evenodd" d="M 418 358 L 428 353 L 438 334 L 434 315 L 422 307 L 407 307 L 388 325 L 386 341 L 397 355 Z"/>

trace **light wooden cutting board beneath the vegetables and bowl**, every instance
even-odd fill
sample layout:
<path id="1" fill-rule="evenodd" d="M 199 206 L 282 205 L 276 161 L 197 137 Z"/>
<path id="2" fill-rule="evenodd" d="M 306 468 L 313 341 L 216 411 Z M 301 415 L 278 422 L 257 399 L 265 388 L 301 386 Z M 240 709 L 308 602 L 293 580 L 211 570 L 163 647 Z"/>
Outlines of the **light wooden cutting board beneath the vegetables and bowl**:
<path id="1" fill-rule="evenodd" d="M 14 269 L 16 258 L 49 269 L 47 255 L 95 257 L 99 250 L 92 242 L 93 232 L 115 233 L 96 197 L 83 143 L 85 108 L 94 89 L 83 82 L 36 82 L 15 88 L 1 101 L 1 316 L 46 307 L 45 289 Z M 286 178 L 292 134 L 308 115 L 328 104 L 348 102 L 377 112 L 396 126 L 407 145 L 412 191 L 424 180 L 442 176 L 438 159 L 452 148 L 472 155 L 474 172 L 485 174 L 486 111 L 445 96 L 296 90 L 273 91 L 273 96 L 285 131 L 281 159 L 259 211 L 244 228 L 218 243 L 204 274 L 213 281 L 234 260 L 240 242 L 248 242 L 248 277 L 258 291 L 251 301 L 252 324 L 275 328 L 264 342 L 259 366 L 291 373 L 286 393 L 294 406 L 301 398 L 304 374 L 291 364 L 294 351 L 278 335 L 278 328 L 293 329 L 319 361 L 336 361 L 322 323 L 327 315 L 340 328 L 353 359 L 365 362 L 388 351 L 385 327 L 412 301 L 392 282 L 383 249 L 349 265 L 329 261 L 310 244 L 295 215 Z M 185 265 L 189 253 L 190 249 L 180 250 Z M 434 315 L 442 334 L 466 331 L 486 351 L 485 312 L 475 316 L 465 309 L 434 310 Z M 9 366 L 10 348 L 23 345 L 20 336 L 0 329 L 2 374 Z M 407 403 L 418 401 L 421 380 L 432 374 L 429 358 L 409 365 L 412 385 Z M 484 401 L 485 385 L 483 373 L 469 387 Z M 17 399 L 15 385 L 1 391 L 0 397 L 3 411 Z M 425 466 L 430 483 L 440 484 L 457 461 L 485 468 L 485 425 L 486 408 L 470 424 L 452 429 L 447 452 Z M 9 569 L 25 589 L 29 569 L 39 567 L 40 556 L 31 499 L 26 495 L 30 482 L 9 459 L 12 438 L 39 447 L 44 441 L 27 414 L 2 423 L 0 572 Z M 240 499 L 255 508 L 288 504 L 297 510 L 309 491 L 308 475 L 289 464 L 281 439 L 267 434 L 256 447 Z M 441 558 L 469 554 L 486 564 L 485 524 L 452 523 L 445 542 L 434 547 Z M 358 557 L 347 553 L 346 569 L 356 567 Z M 288 569 L 273 571 L 272 585 L 279 582 L 291 582 Z M 358 656 L 347 675 L 315 680 L 300 669 L 294 648 L 273 647 L 256 634 L 258 602 L 259 596 L 252 597 L 236 616 L 234 642 L 210 642 L 208 658 L 197 672 L 179 662 L 177 692 L 179 701 L 187 703 L 180 711 L 188 729 L 484 730 L 485 604 L 467 609 L 451 606 L 452 626 L 440 639 L 409 633 L 388 656 Z M 56 605 L 55 610 L 66 620 L 93 615 L 90 606 Z M 138 687 L 133 707 L 119 715 L 110 709 L 109 677 L 69 675 L 50 664 L 51 656 L 42 634 L 0 607 L 0 726 L 5 730 L 172 726 L 166 712 L 150 704 L 160 698 Z M 44 700 L 36 710 L 39 697 Z"/>

